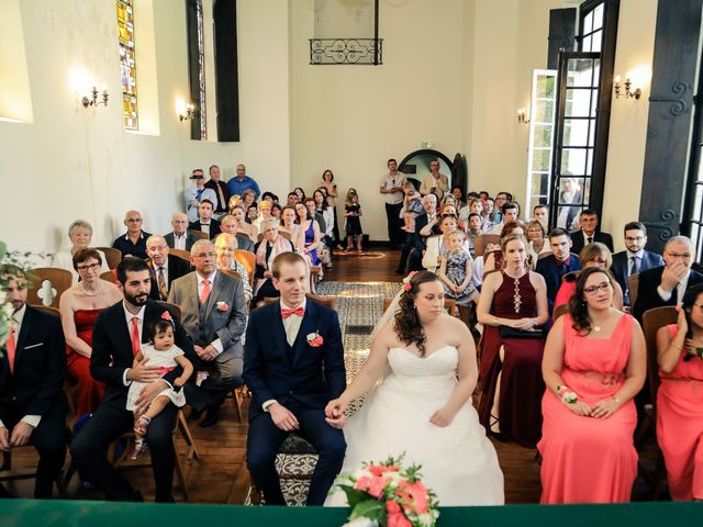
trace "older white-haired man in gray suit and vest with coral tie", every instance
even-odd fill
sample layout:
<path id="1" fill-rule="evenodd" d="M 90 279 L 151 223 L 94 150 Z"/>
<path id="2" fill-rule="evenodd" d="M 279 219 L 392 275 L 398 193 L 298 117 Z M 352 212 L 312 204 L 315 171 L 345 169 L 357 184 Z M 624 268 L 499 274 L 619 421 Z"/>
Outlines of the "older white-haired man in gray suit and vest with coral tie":
<path id="1" fill-rule="evenodd" d="M 227 392 L 242 384 L 242 335 L 247 311 L 242 280 L 217 271 L 212 242 L 196 242 L 190 261 L 196 271 L 174 281 L 168 301 L 181 309 L 183 328 L 196 352 L 215 370 L 200 386 L 207 403 L 201 407 L 191 404 L 197 417 L 207 407 L 208 415 L 201 423 L 207 427 L 217 423 Z"/>

